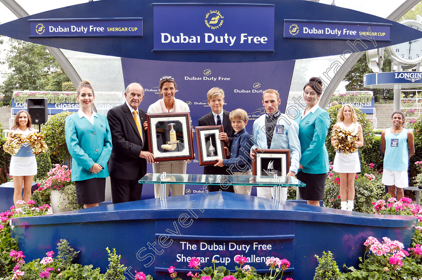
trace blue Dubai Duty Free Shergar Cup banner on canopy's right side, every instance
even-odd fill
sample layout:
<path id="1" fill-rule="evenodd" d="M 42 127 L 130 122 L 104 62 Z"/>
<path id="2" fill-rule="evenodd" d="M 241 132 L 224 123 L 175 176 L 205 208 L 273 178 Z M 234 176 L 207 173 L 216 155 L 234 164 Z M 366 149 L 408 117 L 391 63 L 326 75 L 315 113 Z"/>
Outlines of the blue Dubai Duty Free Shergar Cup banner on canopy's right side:
<path id="1" fill-rule="evenodd" d="M 390 41 L 391 24 L 284 20 L 284 38 Z"/>

